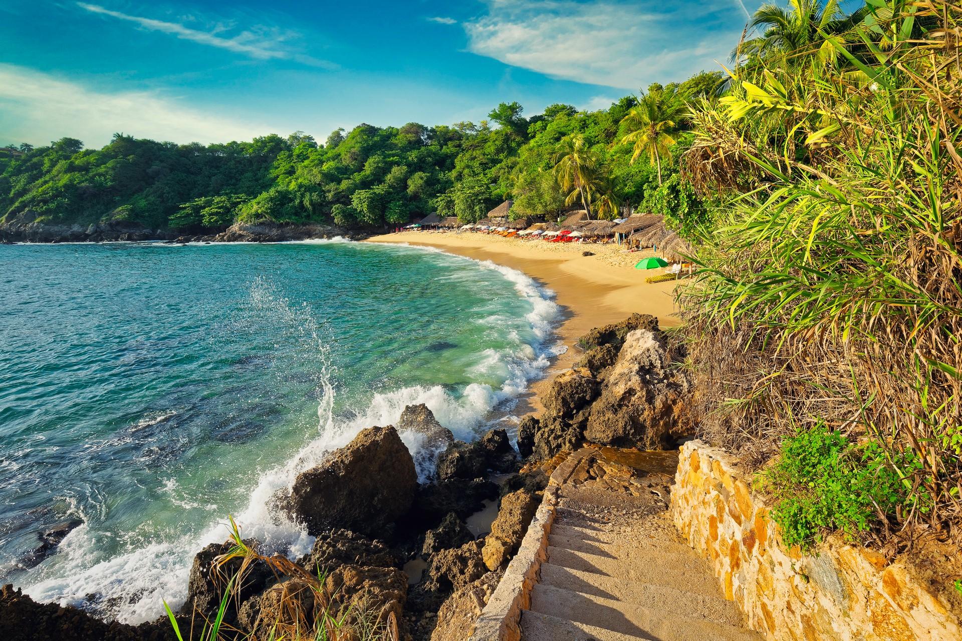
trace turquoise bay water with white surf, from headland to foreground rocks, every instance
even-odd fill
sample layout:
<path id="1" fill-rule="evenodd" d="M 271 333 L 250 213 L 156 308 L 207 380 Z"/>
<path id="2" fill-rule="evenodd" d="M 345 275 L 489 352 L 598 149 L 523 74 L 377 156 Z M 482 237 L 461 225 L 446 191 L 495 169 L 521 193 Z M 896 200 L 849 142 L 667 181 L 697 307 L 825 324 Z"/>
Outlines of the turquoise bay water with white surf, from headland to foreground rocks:
<path id="1" fill-rule="evenodd" d="M 305 551 L 267 500 L 357 431 L 426 403 L 469 439 L 510 411 L 558 317 L 519 272 L 338 241 L 4 246 L 0 301 L 0 582 L 132 623 L 183 601 L 228 513 Z"/>

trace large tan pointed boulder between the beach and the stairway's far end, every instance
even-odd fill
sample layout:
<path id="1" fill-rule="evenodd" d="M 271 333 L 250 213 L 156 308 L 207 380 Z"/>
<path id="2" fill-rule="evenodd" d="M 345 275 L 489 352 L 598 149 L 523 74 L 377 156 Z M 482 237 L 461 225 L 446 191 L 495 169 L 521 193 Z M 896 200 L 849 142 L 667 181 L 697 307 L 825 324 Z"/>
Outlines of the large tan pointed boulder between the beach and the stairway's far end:
<path id="1" fill-rule="evenodd" d="M 686 429 L 692 384 L 672 365 L 664 334 L 638 329 L 625 336 L 591 408 L 585 438 L 605 445 L 671 449 Z"/>

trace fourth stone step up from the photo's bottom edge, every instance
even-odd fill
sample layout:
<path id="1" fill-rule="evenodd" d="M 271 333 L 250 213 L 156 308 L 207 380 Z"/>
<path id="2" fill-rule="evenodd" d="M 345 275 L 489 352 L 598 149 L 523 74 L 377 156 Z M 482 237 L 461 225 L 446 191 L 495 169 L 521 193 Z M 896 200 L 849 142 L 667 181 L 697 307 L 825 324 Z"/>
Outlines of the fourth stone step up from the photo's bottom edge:
<path id="1" fill-rule="evenodd" d="M 653 554 L 640 550 L 630 559 L 623 559 L 548 546 L 547 562 L 613 579 L 663 585 L 680 592 L 711 597 L 719 595 L 718 583 L 708 567 L 693 555 Z"/>

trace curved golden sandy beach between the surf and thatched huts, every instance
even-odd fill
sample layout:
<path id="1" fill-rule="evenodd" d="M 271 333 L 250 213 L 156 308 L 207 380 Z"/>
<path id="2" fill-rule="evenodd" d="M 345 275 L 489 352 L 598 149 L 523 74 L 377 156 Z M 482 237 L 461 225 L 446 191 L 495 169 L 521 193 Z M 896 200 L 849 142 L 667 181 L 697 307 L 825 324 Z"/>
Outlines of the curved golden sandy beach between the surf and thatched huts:
<path id="1" fill-rule="evenodd" d="M 657 316 L 662 327 L 680 323 L 673 295 L 677 283 L 646 283 L 646 278 L 661 271 L 634 268 L 639 260 L 654 256 L 651 250 L 629 253 L 619 245 L 547 243 L 468 232 L 401 232 L 368 241 L 437 247 L 471 259 L 491 260 L 518 269 L 553 290 L 555 300 L 565 309 L 558 334 L 568 346 L 553 370 L 568 368 L 581 356 L 574 348 L 579 336 L 600 325 L 624 320 L 636 311 Z M 582 256 L 585 251 L 595 256 Z M 549 374 L 532 386 L 532 409 L 541 408 L 537 397 L 551 378 Z"/>

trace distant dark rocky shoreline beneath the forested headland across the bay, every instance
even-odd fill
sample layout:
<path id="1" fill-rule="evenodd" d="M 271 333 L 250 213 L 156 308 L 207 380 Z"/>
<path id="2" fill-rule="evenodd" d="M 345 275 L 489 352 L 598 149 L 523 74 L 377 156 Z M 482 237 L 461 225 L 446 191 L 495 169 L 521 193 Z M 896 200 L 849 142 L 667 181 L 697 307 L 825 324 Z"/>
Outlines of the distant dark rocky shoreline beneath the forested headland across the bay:
<path id="1" fill-rule="evenodd" d="M 0 244 L 17 242 L 114 242 L 163 240 L 168 243 L 186 242 L 283 242 L 342 236 L 351 239 L 383 234 L 384 230 L 348 229 L 335 225 L 277 225 L 237 223 L 216 234 L 185 234 L 169 229 L 148 229 L 123 223 L 92 223 L 89 225 L 57 225 L 21 220 L 0 224 Z"/>

